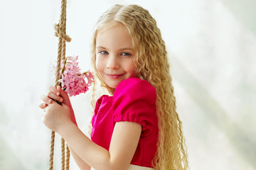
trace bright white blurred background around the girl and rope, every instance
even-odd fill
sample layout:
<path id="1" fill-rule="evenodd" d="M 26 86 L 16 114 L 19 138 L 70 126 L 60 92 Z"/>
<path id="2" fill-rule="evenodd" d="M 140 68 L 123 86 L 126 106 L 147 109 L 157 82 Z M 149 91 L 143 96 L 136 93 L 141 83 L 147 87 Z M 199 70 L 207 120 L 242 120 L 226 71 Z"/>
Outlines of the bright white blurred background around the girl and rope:
<path id="1" fill-rule="evenodd" d="M 100 14 L 114 4 L 149 9 L 166 42 L 191 169 L 256 169 L 256 1 L 68 1 L 67 55 L 90 69 L 89 43 Z M 60 0 L 0 1 L 0 169 L 48 169 L 50 130 L 41 94 L 54 84 Z M 82 131 L 90 91 L 72 98 Z M 55 137 L 60 169 L 60 136 Z M 71 159 L 70 169 L 78 169 Z"/>

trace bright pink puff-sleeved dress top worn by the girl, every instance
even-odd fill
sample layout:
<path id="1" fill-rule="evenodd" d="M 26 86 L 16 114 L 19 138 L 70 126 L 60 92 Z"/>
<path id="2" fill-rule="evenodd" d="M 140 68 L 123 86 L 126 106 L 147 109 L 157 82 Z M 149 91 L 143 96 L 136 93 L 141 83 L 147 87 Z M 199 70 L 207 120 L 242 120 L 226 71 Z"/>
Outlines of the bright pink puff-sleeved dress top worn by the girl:
<path id="1" fill-rule="evenodd" d="M 114 125 L 122 121 L 142 125 L 142 134 L 131 164 L 152 167 L 159 128 L 156 90 L 148 81 L 126 79 L 118 84 L 113 96 L 103 95 L 97 100 L 92 117 L 92 141 L 109 150 Z"/>

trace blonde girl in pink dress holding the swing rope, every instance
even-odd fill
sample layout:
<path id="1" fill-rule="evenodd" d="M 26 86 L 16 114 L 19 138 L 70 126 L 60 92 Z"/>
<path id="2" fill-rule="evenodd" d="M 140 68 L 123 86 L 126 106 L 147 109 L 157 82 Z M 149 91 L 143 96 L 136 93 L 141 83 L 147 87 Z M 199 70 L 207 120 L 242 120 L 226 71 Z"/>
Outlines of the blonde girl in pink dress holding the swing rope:
<path id="1" fill-rule="evenodd" d="M 60 86 L 50 86 L 40 105 L 43 123 L 65 139 L 80 169 L 188 169 L 166 47 L 149 11 L 107 10 L 95 26 L 91 54 L 95 77 L 109 92 L 95 102 L 93 87 L 91 140 Z"/>

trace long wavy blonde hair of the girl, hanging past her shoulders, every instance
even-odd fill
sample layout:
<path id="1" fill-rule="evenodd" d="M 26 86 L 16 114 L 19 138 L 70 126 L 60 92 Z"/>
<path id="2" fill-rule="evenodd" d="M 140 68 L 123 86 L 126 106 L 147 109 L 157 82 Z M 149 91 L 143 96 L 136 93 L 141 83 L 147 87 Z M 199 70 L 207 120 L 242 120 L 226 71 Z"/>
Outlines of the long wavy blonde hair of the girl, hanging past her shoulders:
<path id="1" fill-rule="evenodd" d="M 154 169 L 188 169 L 185 138 L 181 130 L 181 120 L 176 112 L 174 86 L 171 84 L 169 60 L 161 32 L 149 11 L 137 5 L 115 5 L 102 13 L 92 35 L 92 67 L 100 86 L 110 94 L 114 89 L 107 86 L 96 69 L 96 37 L 101 28 L 114 22 L 123 23 L 132 37 L 134 64 L 139 79 L 144 79 L 156 89 L 156 107 L 159 120 L 159 142 L 157 154 L 152 161 Z M 92 108 L 95 108 L 97 84 L 92 88 Z M 98 94 L 100 95 L 100 94 Z"/>

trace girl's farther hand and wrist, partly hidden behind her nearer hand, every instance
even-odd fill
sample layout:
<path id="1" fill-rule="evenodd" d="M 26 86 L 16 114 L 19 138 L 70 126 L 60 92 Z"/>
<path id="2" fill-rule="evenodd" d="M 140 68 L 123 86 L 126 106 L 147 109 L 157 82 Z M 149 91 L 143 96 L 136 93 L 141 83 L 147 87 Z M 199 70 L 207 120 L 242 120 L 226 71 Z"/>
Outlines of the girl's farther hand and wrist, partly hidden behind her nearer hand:
<path id="1" fill-rule="evenodd" d="M 77 125 L 76 120 L 75 120 L 75 114 L 74 114 L 73 108 L 70 103 L 70 98 L 69 98 L 68 94 L 61 89 L 60 86 L 57 86 L 57 88 L 55 86 L 49 87 L 49 92 L 48 92 L 47 96 L 46 95 L 41 96 L 41 100 L 44 103 L 41 103 L 39 105 L 39 108 L 42 108 L 44 111 L 46 111 L 46 107 L 48 105 L 50 105 L 51 103 L 53 103 L 52 99 L 59 101 L 60 103 L 64 103 L 65 105 L 67 105 L 70 108 L 70 118 L 73 121 L 73 123 L 75 123 L 75 125 Z"/>

